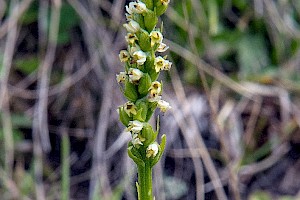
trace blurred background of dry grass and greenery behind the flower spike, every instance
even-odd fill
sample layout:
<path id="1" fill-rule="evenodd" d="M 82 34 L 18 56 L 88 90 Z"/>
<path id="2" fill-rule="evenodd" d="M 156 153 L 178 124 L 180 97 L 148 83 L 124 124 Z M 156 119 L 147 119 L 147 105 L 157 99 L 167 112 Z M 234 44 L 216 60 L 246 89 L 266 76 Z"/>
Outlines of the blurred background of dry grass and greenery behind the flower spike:
<path id="1" fill-rule="evenodd" d="M 136 199 L 116 112 L 128 2 L 0 0 L 1 199 Z M 171 0 L 161 20 L 156 199 L 300 199 L 300 1 Z"/>

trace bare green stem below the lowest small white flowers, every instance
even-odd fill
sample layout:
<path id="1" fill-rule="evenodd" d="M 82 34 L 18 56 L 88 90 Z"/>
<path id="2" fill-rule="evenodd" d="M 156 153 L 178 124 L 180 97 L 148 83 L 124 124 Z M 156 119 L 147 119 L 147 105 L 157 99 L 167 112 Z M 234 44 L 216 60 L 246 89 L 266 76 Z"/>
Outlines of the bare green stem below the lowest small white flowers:
<path id="1" fill-rule="evenodd" d="M 138 166 L 139 200 L 153 200 L 152 196 L 152 168 L 148 160 L 145 167 Z"/>

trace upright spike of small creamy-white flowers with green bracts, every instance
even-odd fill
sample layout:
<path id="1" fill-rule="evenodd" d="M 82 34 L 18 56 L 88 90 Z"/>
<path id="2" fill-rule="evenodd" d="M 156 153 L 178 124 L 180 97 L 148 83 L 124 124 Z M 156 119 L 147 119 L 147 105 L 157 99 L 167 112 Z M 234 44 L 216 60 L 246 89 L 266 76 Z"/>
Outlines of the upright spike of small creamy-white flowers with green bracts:
<path id="1" fill-rule="evenodd" d="M 125 70 L 117 74 L 117 81 L 128 102 L 118 108 L 118 113 L 132 138 L 128 154 L 137 164 L 152 159 L 154 165 L 165 143 L 165 136 L 162 144 L 156 142 L 159 128 L 154 131 L 148 121 L 156 108 L 161 112 L 171 108 L 162 100 L 162 83 L 157 78 L 172 63 L 166 56 L 156 55 L 169 48 L 163 43 L 162 26 L 156 27 L 168 4 L 169 0 L 137 0 L 126 6 L 127 23 L 123 26 L 127 30 L 128 46 L 119 54 Z"/>

